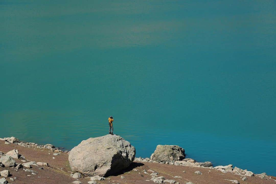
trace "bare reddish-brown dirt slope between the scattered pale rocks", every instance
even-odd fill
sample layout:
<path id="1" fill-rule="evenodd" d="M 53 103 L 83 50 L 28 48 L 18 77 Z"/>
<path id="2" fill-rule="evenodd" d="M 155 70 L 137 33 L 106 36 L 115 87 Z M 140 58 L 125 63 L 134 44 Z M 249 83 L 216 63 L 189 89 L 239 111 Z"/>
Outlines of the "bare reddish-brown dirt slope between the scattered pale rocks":
<path id="1" fill-rule="evenodd" d="M 8 169 L 12 178 L 17 177 L 16 180 L 10 181 L 9 178 L 6 178 L 9 183 L 16 184 L 48 184 L 48 183 L 57 183 L 57 184 L 69 184 L 76 179 L 70 176 L 71 170 L 68 162 L 68 155 L 66 153 L 61 153 L 61 155 L 54 156 L 56 159 L 53 159 L 52 151 L 47 149 L 34 149 L 34 148 L 25 148 L 15 144 L 6 145 L 4 141 L 0 141 L 0 151 L 7 153 L 10 150 L 17 149 L 19 154 L 26 157 L 26 159 L 35 161 L 35 162 L 47 162 L 49 166 L 33 166 L 31 170 L 38 172 L 36 175 L 32 175 L 30 172 L 25 172 L 23 169 L 15 171 L 14 168 L 3 168 L 0 167 L 0 171 Z M 50 154 L 48 154 L 50 153 Z M 23 163 L 20 159 L 16 160 L 17 163 Z M 44 170 L 39 168 L 43 167 Z M 138 169 L 134 171 L 133 169 Z M 269 184 L 276 182 L 272 179 L 266 180 L 259 177 L 247 177 L 245 181 L 241 180 L 240 175 L 235 175 L 232 173 L 222 173 L 214 169 L 205 169 L 197 167 L 186 167 L 186 166 L 174 166 L 168 164 L 159 164 L 159 163 L 148 163 L 148 162 L 133 162 L 126 170 L 119 172 L 116 175 L 107 177 L 103 181 L 98 181 L 97 183 L 102 184 L 111 184 L 111 183 L 153 183 L 152 181 L 147 182 L 145 180 L 150 180 L 151 176 L 144 174 L 143 170 L 151 169 L 153 171 L 159 172 L 158 176 L 164 176 L 166 179 L 173 179 L 179 182 L 180 184 L 185 184 L 187 182 L 192 182 L 194 184 L 232 184 L 232 182 L 224 180 L 238 180 L 241 184 Z M 185 172 L 183 172 L 185 170 Z M 196 170 L 202 172 L 202 175 L 194 174 Z M 140 174 L 139 174 L 140 172 Z M 148 172 L 151 174 L 150 172 Z M 31 176 L 27 176 L 31 175 Z M 124 179 L 121 179 L 121 176 L 124 176 Z M 174 178 L 174 176 L 180 176 L 182 178 Z M 1 177 L 0 177 L 1 178 Z M 79 181 L 82 183 L 87 183 L 89 178 L 80 178 Z"/>

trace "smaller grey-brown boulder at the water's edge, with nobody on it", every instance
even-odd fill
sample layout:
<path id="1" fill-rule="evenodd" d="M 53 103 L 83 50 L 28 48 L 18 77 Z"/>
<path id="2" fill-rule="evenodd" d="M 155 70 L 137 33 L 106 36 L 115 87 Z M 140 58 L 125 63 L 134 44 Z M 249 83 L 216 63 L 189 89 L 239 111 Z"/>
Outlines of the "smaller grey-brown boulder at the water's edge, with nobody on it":
<path id="1" fill-rule="evenodd" d="M 150 159 L 158 162 L 179 161 L 185 158 L 185 150 L 177 145 L 157 145 Z"/>

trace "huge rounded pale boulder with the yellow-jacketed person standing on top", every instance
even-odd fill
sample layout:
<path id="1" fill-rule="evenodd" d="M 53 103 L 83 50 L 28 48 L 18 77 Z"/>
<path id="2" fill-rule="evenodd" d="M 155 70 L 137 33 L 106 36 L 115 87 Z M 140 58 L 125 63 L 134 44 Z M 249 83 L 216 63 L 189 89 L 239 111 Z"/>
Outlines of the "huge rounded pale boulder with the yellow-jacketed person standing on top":
<path id="1" fill-rule="evenodd" d="M 135 158 L 135 148 L 119 135 L 83 140 L 69 154 L 72 171 L 89 176 L 106 176 L 128 167 Z"/>

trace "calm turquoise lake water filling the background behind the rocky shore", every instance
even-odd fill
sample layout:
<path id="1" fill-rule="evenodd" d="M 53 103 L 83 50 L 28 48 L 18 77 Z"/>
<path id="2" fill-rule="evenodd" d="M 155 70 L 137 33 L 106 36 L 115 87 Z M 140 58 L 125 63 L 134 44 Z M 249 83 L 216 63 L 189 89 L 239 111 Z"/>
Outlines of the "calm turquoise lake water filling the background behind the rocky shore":
<path id="1" fill-rule="evenodd" d="M 1 1 L 0 137 L 276 175 L 275 1 Z M 1 150 L 0 150 L 1 151 Z"/>

